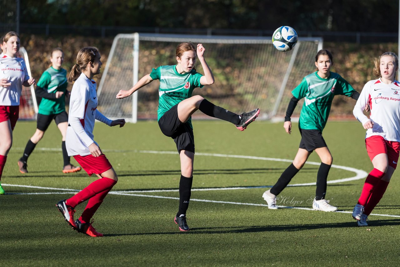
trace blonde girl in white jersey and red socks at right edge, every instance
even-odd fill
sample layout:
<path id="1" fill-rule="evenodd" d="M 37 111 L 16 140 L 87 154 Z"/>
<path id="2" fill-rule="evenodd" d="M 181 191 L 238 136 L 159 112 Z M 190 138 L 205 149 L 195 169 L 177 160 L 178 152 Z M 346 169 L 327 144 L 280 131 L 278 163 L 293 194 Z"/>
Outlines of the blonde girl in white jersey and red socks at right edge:
<path id="1" fill-rule="evenodd" d="M 374 169 L 369 173 L 352 216 L 367 226 L 368 215 L 379 203 L 397 167 L 400 151 L 400 85 L 396 80 L 398 57 L 386 52 L 375 60 L 374 74 L 362 89 L 353 114 L 367 129 L 365 144 Z M 362 112 L 369 104 L 370 117 Z"/>

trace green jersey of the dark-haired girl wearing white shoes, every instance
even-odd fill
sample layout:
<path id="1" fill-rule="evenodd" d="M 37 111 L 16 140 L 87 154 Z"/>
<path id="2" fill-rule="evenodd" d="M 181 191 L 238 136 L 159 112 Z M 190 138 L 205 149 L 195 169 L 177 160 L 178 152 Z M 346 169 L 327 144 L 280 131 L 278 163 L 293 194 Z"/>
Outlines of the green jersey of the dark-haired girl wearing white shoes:
<path id="1" fill-rule="evenodd" d="M 305 76 L 292 91 L 297 99 L 304 97 L 299 127 L 322 132 L 328 120 L 334 96 L 337 94 L 351 96 L 354 92 L 356 92 L 354 88 L 335 72 L 330 72 L 327 79 L 318 76 L 317 72 Z"/>

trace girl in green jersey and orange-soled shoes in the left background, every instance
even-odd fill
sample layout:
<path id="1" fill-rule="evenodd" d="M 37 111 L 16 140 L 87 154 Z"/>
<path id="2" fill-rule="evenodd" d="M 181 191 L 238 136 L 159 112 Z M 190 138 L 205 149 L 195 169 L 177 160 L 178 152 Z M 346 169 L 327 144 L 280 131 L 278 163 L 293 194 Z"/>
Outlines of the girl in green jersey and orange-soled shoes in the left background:
<path id="1" fill-rule="evenodd" d="M 29 155 L 35 149 L 36 144 L 43 138 L 51 121 L 57 124 L 62 135 L 62 157 L 64 159 L 63 173 L 80 171 L 79 166 L 70 163 L 65 147 L 65 135 L 68 127 L 68 114 L 65 111 L 65 94 L 67 91 L 67 71 L 61 68 L 64 62 L 64 52 L 61 48 L 54 48 L 50 55 L 51 66 L 45 70 L 36 85 L 36 96 L 42 98 L 39 104 L 36 132 L 28 140 L 24 154 L 18 160 L 21 173 L 28 173 L 27 164 Z"/>

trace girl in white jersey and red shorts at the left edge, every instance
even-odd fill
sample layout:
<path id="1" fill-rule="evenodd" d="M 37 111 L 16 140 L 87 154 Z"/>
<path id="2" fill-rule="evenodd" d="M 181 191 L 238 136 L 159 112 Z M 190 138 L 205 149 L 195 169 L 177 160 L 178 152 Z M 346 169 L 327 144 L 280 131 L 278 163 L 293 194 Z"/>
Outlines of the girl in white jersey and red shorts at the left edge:
<path id="1" fill-rule="evenodd" d="M 0 180 L 12 146 L 12 131 L 18 120 L 22 85 L 28 87 L 35 83 L 35 79 L 28 76 L 25 61 L 16 57 L 20 46 L 20 37 L 16 32 L 8 32 L 4 36 L 3 48 L 6 53 L 0 58 Z M 0 194 L 4 194 L 1 184 Z"/>

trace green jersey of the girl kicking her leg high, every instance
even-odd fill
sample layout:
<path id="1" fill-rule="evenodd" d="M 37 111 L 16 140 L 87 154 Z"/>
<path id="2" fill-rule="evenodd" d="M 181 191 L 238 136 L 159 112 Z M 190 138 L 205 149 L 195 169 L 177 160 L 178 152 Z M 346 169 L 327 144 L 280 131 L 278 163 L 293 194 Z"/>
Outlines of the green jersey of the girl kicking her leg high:
<path id="1" fill-rule="evenodd" d="M 176 71 L 176 65 L 153 68 L 150 77 L 153 80 L 160 80 L 157 120 L 160 120 L 161 116 L 170 108 L 191 97 L 194 88 L 202 88 L 203 85 L 200 84 L 202 76 L 196 70 L 180 74 Z M 191 118 L 189 118 L 188 123 L 193 128 Z"/>

